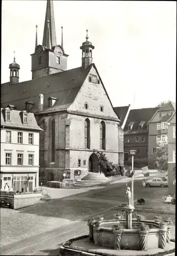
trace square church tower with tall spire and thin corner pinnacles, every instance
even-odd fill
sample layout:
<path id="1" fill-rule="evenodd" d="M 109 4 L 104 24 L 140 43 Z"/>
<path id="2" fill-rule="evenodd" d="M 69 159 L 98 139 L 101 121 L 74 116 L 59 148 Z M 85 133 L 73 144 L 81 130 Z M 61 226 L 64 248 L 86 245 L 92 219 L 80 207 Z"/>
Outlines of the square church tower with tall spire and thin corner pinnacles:
<path id="1" fill-rule="evenodd" d="M 53 1 L 47 0 L 42 45 L 37 45 L 36 25 L 35 52 L 31 54 L 32 79 L 67 70 L 68 56 L 64 53 L 63 38 L 61 38 L 61 46 L 57 45 Z"/>

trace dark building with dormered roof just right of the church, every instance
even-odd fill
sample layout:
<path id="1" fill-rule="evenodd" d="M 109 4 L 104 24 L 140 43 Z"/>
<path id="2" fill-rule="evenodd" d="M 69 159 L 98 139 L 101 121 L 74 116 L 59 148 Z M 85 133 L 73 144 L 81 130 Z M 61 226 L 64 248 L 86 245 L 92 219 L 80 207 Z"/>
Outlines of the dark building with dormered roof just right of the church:
<path id="1" fill-rule="evenodd" d="M 135 167 L 148 164 L 148 121 L 157 108 L 134 109 L 129 111 L 124 126 L 124 164 L 131 165 L 130 150 L 136 150 Z"/>

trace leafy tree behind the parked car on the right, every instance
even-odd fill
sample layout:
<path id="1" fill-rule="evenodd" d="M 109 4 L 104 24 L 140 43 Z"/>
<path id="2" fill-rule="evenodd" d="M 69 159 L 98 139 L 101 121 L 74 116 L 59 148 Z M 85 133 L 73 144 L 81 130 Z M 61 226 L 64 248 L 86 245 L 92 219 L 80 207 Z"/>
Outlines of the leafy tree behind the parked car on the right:
<path id="1" fill-rule="evenodd" d="M 159 142 L 156 147 L 156 158 L 154 165 L 158 170 L 168 170 L 168 143 Z"/>

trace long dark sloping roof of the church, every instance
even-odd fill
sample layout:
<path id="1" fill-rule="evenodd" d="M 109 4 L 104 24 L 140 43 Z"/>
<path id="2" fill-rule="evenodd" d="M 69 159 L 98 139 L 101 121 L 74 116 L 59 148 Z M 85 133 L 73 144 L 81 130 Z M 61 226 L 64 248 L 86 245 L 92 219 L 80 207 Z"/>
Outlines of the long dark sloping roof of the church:
<path id="1" fill-rule="evenodd" d="M 3 83 L 1 86 L 2 106 L 14 104 L 16 109 L 25 110 L 25 103 L 32 101 L 34 105 L 31 111 L 38 112 L 38 95 L 43 94 L 44 111 L 66 110 L 74 101 L 93 65 L 87 69 L 79 67 L 15 84 Z M 49 108 L 49 97 L 57 99 L 52 108 Z"/>

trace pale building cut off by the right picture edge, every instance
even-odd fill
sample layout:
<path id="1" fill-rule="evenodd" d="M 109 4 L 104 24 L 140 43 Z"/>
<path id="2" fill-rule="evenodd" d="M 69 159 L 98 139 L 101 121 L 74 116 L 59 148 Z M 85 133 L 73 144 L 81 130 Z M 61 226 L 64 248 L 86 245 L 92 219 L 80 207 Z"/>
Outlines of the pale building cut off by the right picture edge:
<path id="1" fill-rule="evenodd" d="M 175 194 L 176 186 L 176 112 L 168 119 L 168 190 Z"/>

